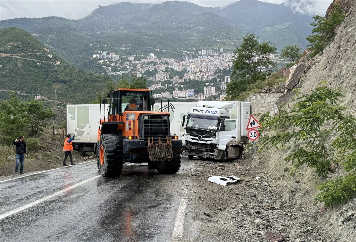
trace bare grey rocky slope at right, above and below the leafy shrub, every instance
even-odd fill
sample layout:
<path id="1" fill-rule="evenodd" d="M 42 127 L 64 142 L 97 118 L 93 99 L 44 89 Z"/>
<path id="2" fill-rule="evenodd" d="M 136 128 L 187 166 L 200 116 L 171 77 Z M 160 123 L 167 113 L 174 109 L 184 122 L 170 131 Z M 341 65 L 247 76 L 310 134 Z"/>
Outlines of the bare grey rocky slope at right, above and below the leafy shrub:
<path id="1" fill-rule="evenodd" d="M 342 2 L 344 4 L 347 2 L 350 9 L 334 41 L 319 55 L 300 62 L 289 70 L 287 82 L 282 86 L 283 93 L 279 89 L 279 93 L 261 92 L 249 97 L 248 100 L 256 106 L 256 111 L 259 109 L 273 114 L 276 112 L 276 105 L 293 104 L 294 94 L 291 92 L 293 88 L 300 88 L 303 93 L 308 93 L 320 85 L 328 85 L 331 88 L 342 88 L 345 95 L 342 105 L 345 105 L 351 114 L 356 115 L 356 0 Z M 326 84 L 322 84 L 323 81 Z M 277 93 L 280 96 L 274 101 L 273 98 Z M 261 103 L 262 99 L 265 100 L 265 104 Z M 273 189 L 278 189 L 281 207 L 288 207 L 296 214 L 304 211 L 297 215 L 298 218 L 303 219 L 302 222 L 294 220 L 294 223 L 300 226 L 300 231 L 305 227 L 305 222 L 308 226 L 315 227 L 312 233 L 300 233 L 299 237 L 288 234 L 288 241 L 356 241 L 356 216 L 354 216 L 356 198 L 342 206 L 326 210 L 323 204 L 315 205 L 314 196 L 318 193 L 315 184 L 323 183 L 326 179 L 317 178 L 313 169 L 306 166 L 302 166 L 295 176 L 288 177 L 286 171 L 292 164 L 284 161 L 284 158 L 293 149 L 295 146 L 292 143 L 278 150 L 272 148 L 267 152 L 259 153 L 251 164 L 252 171 L 258 171 L 261 177 L 272 177 L 267 182 L 269 185 L 273 184 Z M 345 174 L 341 168 L 336 168 L 334 173 L 328 175 L 328 179 L 340 175 Z M 348 220 L 349 214 L 352 216 Z M 286 229 L 289 230 L 290 226 Z"/>

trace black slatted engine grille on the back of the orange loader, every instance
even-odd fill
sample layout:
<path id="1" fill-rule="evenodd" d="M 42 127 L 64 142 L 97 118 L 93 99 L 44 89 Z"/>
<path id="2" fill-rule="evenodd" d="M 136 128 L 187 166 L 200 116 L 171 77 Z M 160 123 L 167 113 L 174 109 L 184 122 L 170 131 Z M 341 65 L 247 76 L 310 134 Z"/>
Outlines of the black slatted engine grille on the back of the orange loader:
<path id="1" fill-rule="evenodd" d="M 148 119 L 143 119 L 143 115 L 140 115 L 138 119 L 139 122 L 139 131 L 138 135 L 140 139 L 145 139 L 148 141 L 148 137 L 154 137 L 155 141 L 158 141 L 158 138 L 163 138 L 163 142 L 166 142 L 166 136 L 171 136 L 171 130 L 169 127 L 169 117 L 168 119 L 163 119 L 163 116 L 160 114 L 144 114 L 148 115 Z"/>

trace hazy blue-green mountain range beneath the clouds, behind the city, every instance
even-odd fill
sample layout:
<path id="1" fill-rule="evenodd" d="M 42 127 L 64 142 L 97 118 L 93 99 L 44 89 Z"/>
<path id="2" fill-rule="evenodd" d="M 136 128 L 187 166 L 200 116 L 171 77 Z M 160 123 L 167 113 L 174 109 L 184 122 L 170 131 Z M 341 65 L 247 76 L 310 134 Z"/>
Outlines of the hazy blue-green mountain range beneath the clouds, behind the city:
<path id="1" fill-rule="evenodd" d="M 310 22 L 310 16 L 293 12 L 286 2 L 277 5 L 240 0 L 213 8 L 167 1 L 99 6 L 79 20 L 15 18 L 0 21 L 0 27 L 18 27 L 37 34 L 38 40 L 71 64 L 86 68 L 93 52 L 103 50 L 105 45 L 105 49 L 119 55 L 147 54 L 160 49 L 156 53 L 159 57 L 178 58 L 182 48 L 223 47 L 232 52 L 247 32 L 256 33 L 260 41 L 275 43 L 279 50 L 293 44 L 305 48 Z M 89 48 L 89 44 L 99 47 Z"/>

